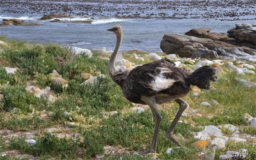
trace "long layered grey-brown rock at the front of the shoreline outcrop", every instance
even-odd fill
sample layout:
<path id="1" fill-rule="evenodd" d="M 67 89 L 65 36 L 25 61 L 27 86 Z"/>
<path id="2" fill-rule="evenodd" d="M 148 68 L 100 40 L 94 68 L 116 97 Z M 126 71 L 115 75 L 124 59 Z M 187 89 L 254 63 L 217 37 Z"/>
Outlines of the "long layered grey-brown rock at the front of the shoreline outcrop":
<path id="1" fill-rule="evenodd" d="M 185 34 L 165 34 L 163 40 L 160 43 L 160 48 L 167 54 L 178 54 L 180 57 L 190 58 L 222 58 L 234 57 L 237 59 L 256 61 L 256 50 L 247 46 L 237 46 L 224 41 L 225 36 L 218 35 L 218 38 L 214 38 L 217 34 L 207 34 L 205 32 L 209 29 L 190 30 L 189 33 L 193 33 L 198 37 L 188 36 Z M 188 32 L 187 32 L 188 33 Z M 200 37 L 212 37 L 200 38 Z M 226 37 L 226 40 L 230 38 Z"/>

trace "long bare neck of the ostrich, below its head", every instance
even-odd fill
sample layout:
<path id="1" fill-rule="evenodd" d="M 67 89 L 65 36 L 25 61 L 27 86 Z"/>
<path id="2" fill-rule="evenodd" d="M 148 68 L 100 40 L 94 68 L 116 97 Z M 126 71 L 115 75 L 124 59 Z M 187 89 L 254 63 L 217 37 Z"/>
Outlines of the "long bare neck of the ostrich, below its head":
<path id="1" fill-rule="evenodd" d="M 115 62 L 116 62 L 116 55 L 118 54 L 121 43 L 122 43 L 122 32 L 120 34 L 116 34 L 116 48 L 111 54 L 111 56 L 109 57 L 108 72 L 110 76 L 114 75 L 117 72 Z"/>

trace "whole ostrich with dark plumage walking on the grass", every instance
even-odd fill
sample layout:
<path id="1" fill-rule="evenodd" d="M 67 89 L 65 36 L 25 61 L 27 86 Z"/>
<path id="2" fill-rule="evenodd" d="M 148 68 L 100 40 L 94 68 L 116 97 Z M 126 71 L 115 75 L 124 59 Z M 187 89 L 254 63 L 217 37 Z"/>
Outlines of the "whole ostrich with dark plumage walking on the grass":
<path id="1" fill-rule="evenodd" d="M 180 146 L 173 135 L 173 131 L 182 112 L 188 107 L 188 103 L 180 98 L 188 94 L 191 85 L 198 86 L 200 89 L 209 89 L 210 80 L 215 81 L 217 79 L 215 69 L 203 66 L 189 74 L 188 70 L 176 67 L 175 63 L 168 58 L 137 66 L 130 72 L 117 69 L 115 60 L 122 43 L 122 27 L 118 25 L 107 30 L 115 33 L 117 39 L 116 47 L 108 62 L 108 72 L 112 80 L 121 87 L 124 96 L 129 101 L 148 105 L 154 116 L 154 134 L 151 147 L 140 154 L 144 155 L 156 151 L 157 135 L 162 119 L 156 104 L 172 100 L 178 103 L 180 107 L 166 132 L 166 137 Z"/>

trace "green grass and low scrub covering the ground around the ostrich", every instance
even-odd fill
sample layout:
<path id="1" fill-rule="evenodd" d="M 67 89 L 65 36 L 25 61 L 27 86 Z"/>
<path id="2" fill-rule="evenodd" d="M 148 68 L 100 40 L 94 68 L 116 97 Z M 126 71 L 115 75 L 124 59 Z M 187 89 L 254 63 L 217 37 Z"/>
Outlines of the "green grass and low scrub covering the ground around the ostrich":
<path id="1" fill-rule="evenodd" d="M 148 109 L 142 113 L 128 111 L 132 106 L 126 100 L 122 91 L 108 75 L 106 60 L 99 56 L 108 57 L 93 51 L 93 57 L 84 54 L 74 56 L 66 48 L 55 45 L 38 45 L 6 40 L 7 46 L 0 46 L 0 58 L 4 66 L 17 67 L 15 74 L 7 74 L 0 66 L 0 94 L 3 100 L 0 103 L 0 129 L 11 129 L 15 132 L 33 132 L 38 143 L 30 146 L 24 137 L 13 137 L 9 144 L 7 138 L 0 137 L 0 151 L 17 150 L 20 154 L 32 154 L 41 160 L 61 159 L 94 159 L 96 154 L 103 154 L 104 147 L 122 147 L 127 153 L 113 153 L 105 155 L 103 160 L 149 160 L 152 155 L 140 156 L 133 151 L 144 151 L 150 148 L 154 131 L 154 120 Z M 132 57 L 133 53 L 141 55 L 144 62 Z M 145 55 L 147 52 L 128 51 L 123 56 L 135 64 L 151 62 Z M 185 62 L 186 63 L 186 62 Z M 186 63 L 190 64 L 190 63 Z M 224 67 L 225 68 L 225 67 Z M 51 90 L 50 94 L 58 99 L 55 103 L 48 103 L 43 98 L 35 97 L 34 93 L 26 91 L 27 85 L 35 85 L 40 89 L 52 86 L 49 76 L 56 70 L 68 81 L 68 87 L 61 91 Z M 99 73 L 106 78 L 99 78 L 94 84 L 80 85 L 84 82 L 82 73 L 93 76 Z M 201 91 L 199 97 L 192 92 L 184 99 L 190 109 L 197 109 L 202 117 L 187 116 L 180 118 L 185 123 L 178 123 L 174 134 L 180 140 L 182 147 L 173 149 L 166 154 L 166 149 L 176 147 L 166 138 L 166 131 L 175 117 L 177 103 L 164 104 L 160 113 L 163 120 L 160 125 L 157 157 L 163 160 L 195 160 L 201 150 L 191 146 L 196 139 L 192 131 L 200 131 L 197 126 L 232 124 L 239 127 L 242 134 L 256 135 L 255 128 L 247 127 L 244 114 L 256 117 L 256 90 L 241 86 L 235 78 L 240 77 L 256 82 L 255 75 L 237 76 L 233 72 L 224 72 L 218 75 L 216 83 L 212 83 L 209 91 Z M 220 105 L 209 107 L 200 106 L 203 101 L 217 100 Z M 15 111 L 13 109 L 16 109 Z M 118 111 L 118 114 L 105 116 L 105 112 Z M 65 118 L 64 112 L 70 117 Z M 41 118 L 47 114 L 48 118 Z M 209 117 L 210 116 L 210 117 Z M 70 122 L 75 126 L 67 127 Z M 49 128 L 58 128 L 52 134 Z M 222 129 L 226 135 L 229 131 Z M 58 138 L 57 134 L 78 134 L 79 138 Z M 252 143 L 227 143 L 225 149 L 217 149 L 215 158 L 227 150 L 238 151 L 241 147 L 250 153 L 256 153 Z M 3 160 L 17 159 L 18 157 L 4 156 Z"/>

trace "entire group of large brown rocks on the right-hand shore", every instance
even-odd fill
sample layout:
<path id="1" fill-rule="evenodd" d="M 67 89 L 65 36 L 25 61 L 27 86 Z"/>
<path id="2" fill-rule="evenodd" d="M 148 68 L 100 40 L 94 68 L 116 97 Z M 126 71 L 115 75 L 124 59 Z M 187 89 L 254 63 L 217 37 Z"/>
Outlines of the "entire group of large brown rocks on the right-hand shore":
<path id="1" fill-rule="evenodd" d="M 191 29 L 185 34 L 165 34 L 160 48 L 167 54 L 190 58 L 231 58 L 256 61 L 256 25 L 236 24 L 228 34 L 209 28 Z"/>

